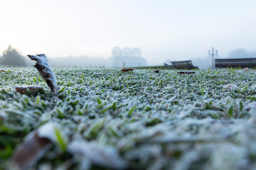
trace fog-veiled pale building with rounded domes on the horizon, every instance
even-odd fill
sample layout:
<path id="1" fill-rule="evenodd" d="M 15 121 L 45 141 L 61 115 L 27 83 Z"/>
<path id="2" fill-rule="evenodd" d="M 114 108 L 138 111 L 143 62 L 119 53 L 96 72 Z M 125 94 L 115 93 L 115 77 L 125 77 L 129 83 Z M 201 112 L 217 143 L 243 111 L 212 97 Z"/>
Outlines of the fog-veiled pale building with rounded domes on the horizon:
<path id="1" fill-rule="evenodd" d="M 146 60 L 142 57 L 142 50 L 138 47 L 112 48 L 112 57 L 108 59 L 110 67 L 142 67 L 146 66 Z"/>

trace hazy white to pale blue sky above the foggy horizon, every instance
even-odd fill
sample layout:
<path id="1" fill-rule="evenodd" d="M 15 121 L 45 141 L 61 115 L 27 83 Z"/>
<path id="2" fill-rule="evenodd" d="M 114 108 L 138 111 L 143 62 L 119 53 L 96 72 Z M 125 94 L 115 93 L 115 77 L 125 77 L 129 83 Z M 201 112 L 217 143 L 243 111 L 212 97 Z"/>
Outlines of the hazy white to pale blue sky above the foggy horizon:
<path id="1" fill-rule="evenodd" d="M 256 50 L 255 0 L 3 0 L 0 52 L 110 57 L 139 47 L 149 64 Z"/>

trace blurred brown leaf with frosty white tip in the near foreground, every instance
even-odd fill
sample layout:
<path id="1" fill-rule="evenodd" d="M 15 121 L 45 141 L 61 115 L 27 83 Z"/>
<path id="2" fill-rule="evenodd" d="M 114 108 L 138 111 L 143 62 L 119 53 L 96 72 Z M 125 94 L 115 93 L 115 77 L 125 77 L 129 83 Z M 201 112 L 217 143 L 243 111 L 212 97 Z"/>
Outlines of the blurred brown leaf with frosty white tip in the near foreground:
<path id="1" fill-rule="evenodd" d="M 47 123 L 29 133 L 23 144 L 14 150 L 11 162 L 19 169 L 28 169 L 36 164 L 55 142 L 55 127 L 55 124 Z"/>

